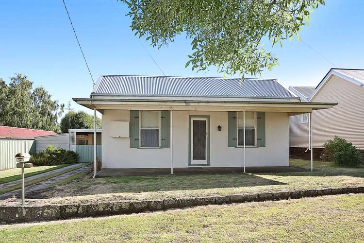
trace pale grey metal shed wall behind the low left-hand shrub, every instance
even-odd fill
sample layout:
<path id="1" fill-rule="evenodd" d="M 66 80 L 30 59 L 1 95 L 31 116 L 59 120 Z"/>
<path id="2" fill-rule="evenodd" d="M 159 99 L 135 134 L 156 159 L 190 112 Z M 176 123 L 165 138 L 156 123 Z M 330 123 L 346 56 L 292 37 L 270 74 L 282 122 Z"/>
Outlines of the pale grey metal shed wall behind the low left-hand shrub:
<path id="1" fill-rule="evenodd" d="M 69 136 L 68 133 L 64 133 L 44 137 L 35 137 L 35 141 L 35 150 L 37 153 L 44 151 L 49 145 L 68 150 Z"/>

